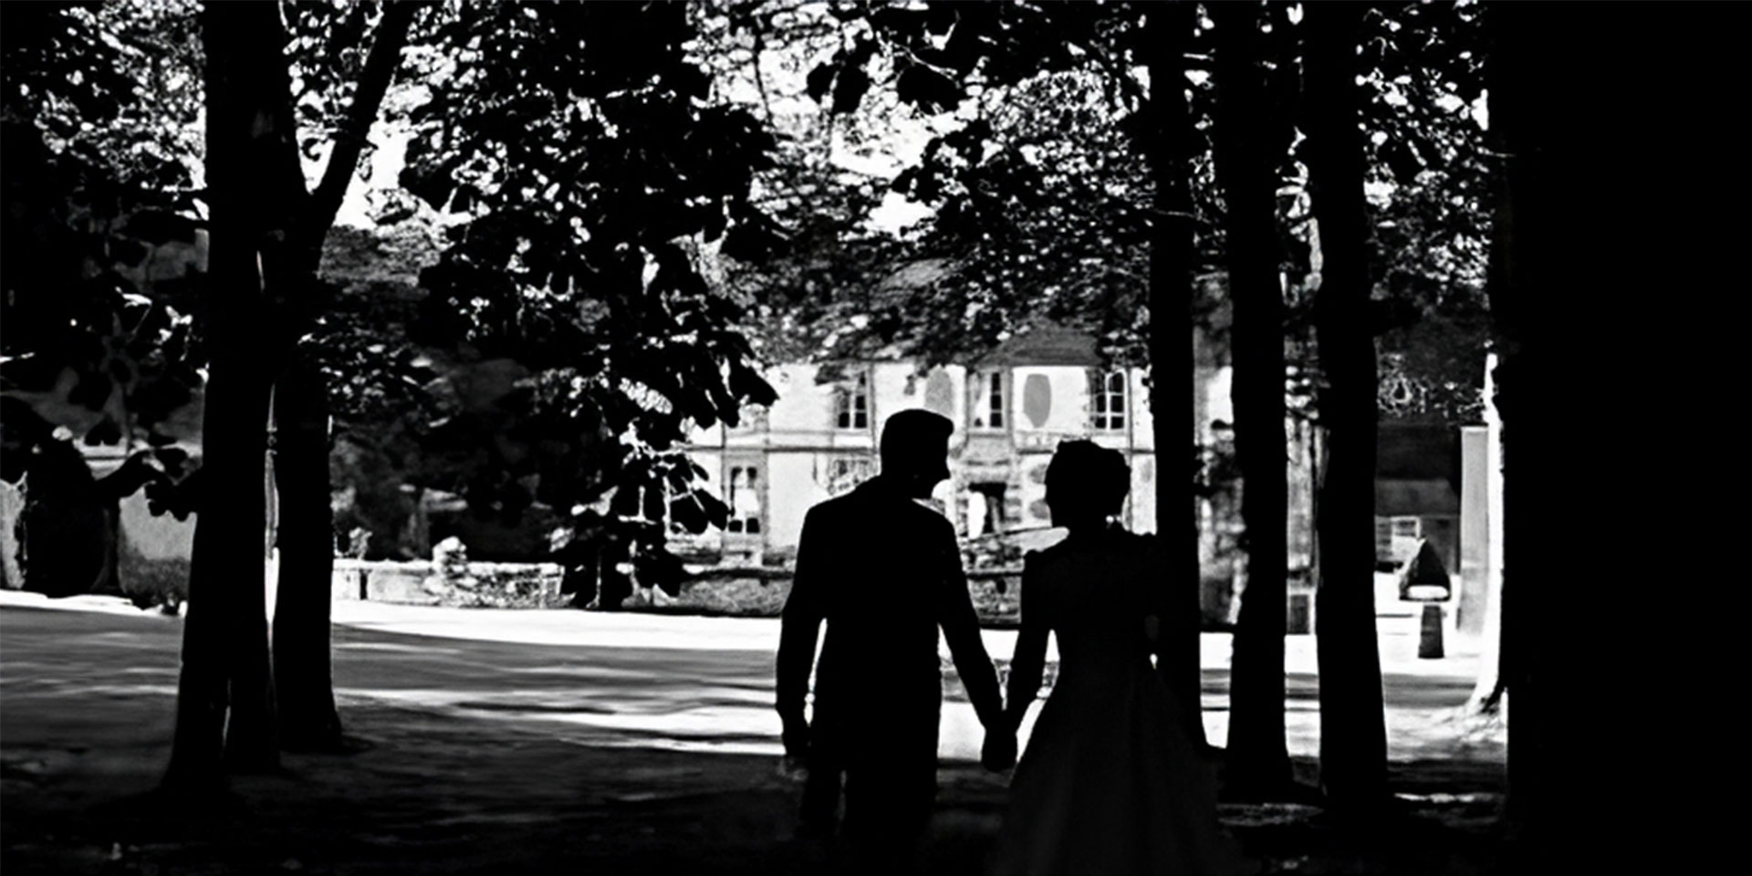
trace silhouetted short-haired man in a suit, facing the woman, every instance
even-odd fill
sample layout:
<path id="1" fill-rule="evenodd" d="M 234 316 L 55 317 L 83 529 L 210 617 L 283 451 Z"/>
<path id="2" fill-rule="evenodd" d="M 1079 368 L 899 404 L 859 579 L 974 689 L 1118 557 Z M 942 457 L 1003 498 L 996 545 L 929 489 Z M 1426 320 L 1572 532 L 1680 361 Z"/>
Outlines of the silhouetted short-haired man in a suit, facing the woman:
<path id="1" fill-rule="evenodd" d="M 916 851 L 937 792 L 937 627 L 979 722 L 997 725 L 1002 710 L 955 529 L 915 501 L 950 477 L 953 429 L 925 410 L 888 417 L 881 475 L 809 510 L 778 646 L 785 753 L 806 757 L 809 771 L 799 832 L 832 834 L 844 776 L 848 837 L 865 860 L 876 853 L 897 865 Z"/>

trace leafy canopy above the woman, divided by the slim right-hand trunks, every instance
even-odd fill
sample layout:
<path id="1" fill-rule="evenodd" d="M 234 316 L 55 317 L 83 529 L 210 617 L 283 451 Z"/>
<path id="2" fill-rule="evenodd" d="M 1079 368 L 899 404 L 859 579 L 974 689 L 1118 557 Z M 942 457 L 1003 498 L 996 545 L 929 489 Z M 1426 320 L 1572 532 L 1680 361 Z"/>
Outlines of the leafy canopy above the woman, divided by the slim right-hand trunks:
<path id="1" fill-rule="evenodd" d="M 778 4 L 755 4 L 771 9 Z M 818 331 L 816 356 L 878 349 L 934 361 L 965 357 L 1035 321 L 1097 333 L 1118 361 L 1146 363 L 1144 240 L 1149 186 L 1139 137 L 1151 119 L 1142 75 L 1142 18 L 1128 4 L 843 4 L 841 46 L 816 54 L 809 95 L 823 114 L 913 107 L 934 131 L 892 187 L 929 205 L 911 233 L 815 247 L 790 258 L 832 279 L 834 307 L 808 296 L 762 303 Z M 1363 124 L 1368 149 L 1374 329 L 1381 335 L 1382 410 L 1389 417 L 1470 422 L 1482 385 L 1484 245 L 1491 177 L 1475 107 L 1484 44 L 1477 4 L 1393 4 L 1365 18 Z M 1275 158 L 1286 273 L 1286 331 L 1296 340 L 1291 410 L 1318 417 L 1323 380 L 1310 307 L 1318 289 L 1318 223 L 1307 194 L 1300 14 L 1267 9 L 1265 100 L 1288 147 Z M 1198 275 L 1195 307 L 1219 342 L 1226 307 L 1223 198 L 1212 172 L 1211 23 L 1200 19 L 1184 84 L 1197 138 L 1191 151 Z M 880 88 L 878 88 L 880 86 Z M 857 100 L 853 100 L 853 96 Z M 855 223 L 843 223 L 855 226 Z M 925 284 L 894 282 L 897 266 L 934 266 Z M 759 272 L 757 272 L 759 273 Z M 774 291 L 806 282 L 767 277 Z M 855 319 L 855 328 L 844 329 Z M 792 333 L 794 335 L 794 333 Z M 895 343 L 894 340 L 899 340 Z M 829 343 L 830 342 L 830 343 Z"/>

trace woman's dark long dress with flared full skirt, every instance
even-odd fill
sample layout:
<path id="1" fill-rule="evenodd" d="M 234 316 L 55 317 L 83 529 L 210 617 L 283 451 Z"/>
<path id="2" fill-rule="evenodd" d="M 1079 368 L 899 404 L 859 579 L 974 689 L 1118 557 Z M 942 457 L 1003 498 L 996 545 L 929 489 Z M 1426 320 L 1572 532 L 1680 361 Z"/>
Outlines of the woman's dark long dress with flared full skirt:
<path id="1" fill-rule="evenodd" d="M 1046 629 L 1060 671 L 1011 781 L 993 876 L 1237 874 L 1211 766 L 1149 662 L 1153 540 L 1123 529 L 1030 554 L 1011 696 L 1039 690 Z"/>

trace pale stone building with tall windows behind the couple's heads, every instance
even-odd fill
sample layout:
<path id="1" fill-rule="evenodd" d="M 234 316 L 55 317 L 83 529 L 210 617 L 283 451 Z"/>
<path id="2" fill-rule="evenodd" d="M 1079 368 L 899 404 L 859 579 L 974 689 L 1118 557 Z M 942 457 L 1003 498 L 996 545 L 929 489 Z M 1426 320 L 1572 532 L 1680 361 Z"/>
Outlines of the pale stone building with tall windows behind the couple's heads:
<path id="1" fill-rule="evenodd" d="M 1125 454 L 1132 494 L 1121 520 L 1134 531 L 1156 529 L 1144 370 L 1104 368 L 1086 335 L 1035 329 L 978 361 L 929 371 L 906 361 L 785 364 L 767 380 L 778 401 L 752 410 L 739 427 L 694 436 L 690 452 L 711 475 L 708 487 L 731 506 L 727 527 L 699 547 L 727 557 L 790 555 L 809 506 L 880 470 L 881 424 L 906 408 L 955 422 L 950 480 L 932 501 L 962 538 L 1044 536 L 1046 464 L 1069 438 Z"/>

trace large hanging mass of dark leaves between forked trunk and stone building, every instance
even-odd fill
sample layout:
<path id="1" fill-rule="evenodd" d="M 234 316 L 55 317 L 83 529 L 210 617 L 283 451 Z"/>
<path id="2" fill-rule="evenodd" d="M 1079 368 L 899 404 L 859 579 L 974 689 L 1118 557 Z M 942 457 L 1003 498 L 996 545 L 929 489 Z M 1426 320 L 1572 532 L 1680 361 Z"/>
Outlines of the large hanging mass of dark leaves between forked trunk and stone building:
<path id="1" fill-rule="evenodd" d="M 566 555 L 631 555 L 675 587 L 666 527 L 704 531 L 725 508 L 694 484 L 692 426 L 734 424 L 773 401 L 736 331 L 741 303 L 708 280 L 708 247 L 759 254 L 771 231 L 752 179 L 773 138 L 741 107 L 710 103 L 682 4 L 461 4 L 431 39 L 401 184 L 464 217 L 422 272 L 415 342 L 459 347 L 522 377 L 489 412 L 433 440 L 522 450 L 468 484 L 477 506 L 569 513 Z M 608 501 L 606 510 L 594 505 Z"/>

